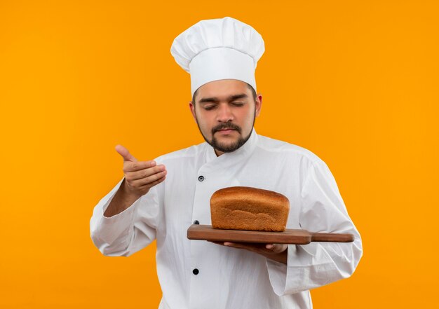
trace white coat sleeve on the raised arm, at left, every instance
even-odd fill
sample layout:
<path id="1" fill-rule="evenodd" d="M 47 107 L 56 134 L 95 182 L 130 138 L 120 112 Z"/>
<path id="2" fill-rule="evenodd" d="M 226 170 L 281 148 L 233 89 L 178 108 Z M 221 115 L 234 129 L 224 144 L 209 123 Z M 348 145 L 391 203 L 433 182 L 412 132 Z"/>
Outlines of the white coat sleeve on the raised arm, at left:
<path id="1" fill-rule="evenodd" d="M 156 239 L 160 212 L 158 184 L 133 205 L 113 217 L 104 217 L 122 181 L 97 203 L 90 219 L 90 235 L 95 246 L 106 256 L 130 256 Z"/>

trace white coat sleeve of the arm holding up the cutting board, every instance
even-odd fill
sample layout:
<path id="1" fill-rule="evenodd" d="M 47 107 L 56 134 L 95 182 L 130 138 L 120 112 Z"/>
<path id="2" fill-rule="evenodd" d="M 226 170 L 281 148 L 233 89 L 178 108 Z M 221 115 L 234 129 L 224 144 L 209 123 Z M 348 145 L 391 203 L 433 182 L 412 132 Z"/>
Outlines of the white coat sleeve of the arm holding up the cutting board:
<path id="1" fill-rule="evenodd" d="M 299 222 L 303 229 L 351 233 L 355 240 L 288 245 L 287 265 L 267 259 L 270 282 L 278 296 L 306 291 L 349 277 L 363 255 L 360 234 L 349 218 L 335 179 L 323 161 L 309 163 L 301 200 Z"/>

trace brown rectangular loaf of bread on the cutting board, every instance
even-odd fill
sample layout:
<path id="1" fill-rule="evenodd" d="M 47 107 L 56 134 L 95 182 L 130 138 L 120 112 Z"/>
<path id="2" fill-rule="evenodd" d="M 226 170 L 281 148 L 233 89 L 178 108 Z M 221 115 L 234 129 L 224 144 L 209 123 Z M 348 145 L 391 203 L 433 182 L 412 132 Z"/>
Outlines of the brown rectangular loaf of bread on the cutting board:
<path id="1" fill-rule="evenodd" d="M 259 188 L 231 186 L 210 198 L 212 228 L 283 232 L 288 212 L 290 201 L 285 195 Z"/>

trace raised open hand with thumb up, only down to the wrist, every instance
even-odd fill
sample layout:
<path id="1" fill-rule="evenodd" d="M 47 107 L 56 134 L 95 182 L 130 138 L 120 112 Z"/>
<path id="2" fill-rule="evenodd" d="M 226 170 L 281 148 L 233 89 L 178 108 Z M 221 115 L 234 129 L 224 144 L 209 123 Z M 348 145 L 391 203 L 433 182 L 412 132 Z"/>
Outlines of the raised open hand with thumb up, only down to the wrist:
<path id="1" fill-rule="evenodd" d="M 122 145 L 117 145 L 116 151 L 123 158 L 123 174 L 125 175 L 123 185 L 130 195 L 140 198 L 147 194 L 150 188 L 165 180 L 167 172 L 165 165 L 156 165 L 154 161 L 137 161 Z"/>

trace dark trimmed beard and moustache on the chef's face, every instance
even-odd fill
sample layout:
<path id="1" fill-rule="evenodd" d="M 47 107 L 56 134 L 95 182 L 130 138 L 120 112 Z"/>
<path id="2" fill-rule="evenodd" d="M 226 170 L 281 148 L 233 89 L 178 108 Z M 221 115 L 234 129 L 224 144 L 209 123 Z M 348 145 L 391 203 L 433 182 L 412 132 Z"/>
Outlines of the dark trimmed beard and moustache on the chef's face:
<path id="1" fill-rule="evenodd" d="M 255 125 L 255 119 L 256 119 L 256 111 L 255 111 L 255 115 L 253 116 L 252 129 L 253 129 L 253 126 Z M 243 137 L 241 135 L 241 132 L 242 132 L 241 127 L 239 127 L 238 125 L 235 125 L 234 123 L 227 122 L 227 123 L 220 123 L 219 125 L 212 128 L 212 140 L 209 140 L 207 137 L 205 137 L 205 135 L 203 134 L 203 131 L 200 128 L 200 125 L 198 124 L 198 118 L 196 119 L 196 125 L 198 125 L 198 130 L 200 130 L 201 135 L 203 135 L 203 139 L 205 140 L 205 142 L 207 142 L 214 149 L 217 149 L 218 151 L 221 151 L 224 153 L 236 151 L 241 146 L 243 146 L 243 144 L 245 144 L 248 141 L 248 139 L 250 139 L 250 135 L 252 135 L 252 130 L 250 130 L 250 133 L 248 134 L 248 136 Z M 217 132 L 219 130 L 224 130 L 224 129 L 236 130 L 239 133 L 239 137 L 236 140 L 236 142 L 233 142 L 231 144 L 225 144 L 225 143 L 221 143 L 218 141 L 218 139 L 215 137 L 215 132 Z"/>

